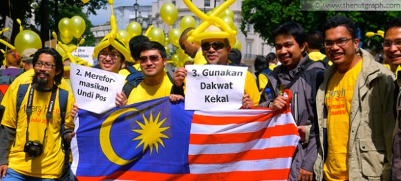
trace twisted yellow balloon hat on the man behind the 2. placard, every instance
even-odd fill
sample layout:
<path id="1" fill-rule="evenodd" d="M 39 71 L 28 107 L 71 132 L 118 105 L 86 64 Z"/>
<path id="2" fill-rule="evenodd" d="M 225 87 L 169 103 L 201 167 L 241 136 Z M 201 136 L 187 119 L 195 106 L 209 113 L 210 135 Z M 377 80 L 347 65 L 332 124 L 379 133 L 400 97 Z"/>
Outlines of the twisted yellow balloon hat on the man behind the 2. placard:
<path id="1" fill-rule="evenodd" d="M 117 20 L 115 19 L 113 12 L 113 0 L 109 0 L 109 4 L 111 9 L 111 16 L 110 16 L 111 31 L 109 32 L 109 34 L 106 34 L 106 36 L 104 36 L 102 41 L 100 41 L 100 43 L 95 47 L 95 50 L 93 50 L 92 57 L 97 58 L 97 55 L 101 50 L 103 50 L 105 47 L 108 47 L 109 45 L 112 45 L 116 50 L 118 50 L 118 52 L 120 52 L 124 56 L 125 61 L 133 62 L 133 59 L 131 58 L 131 53 L 129 51 L 129 47 L 127 43 L 124 43 L 124 39 L 118 33 L 117 30 Z"/>

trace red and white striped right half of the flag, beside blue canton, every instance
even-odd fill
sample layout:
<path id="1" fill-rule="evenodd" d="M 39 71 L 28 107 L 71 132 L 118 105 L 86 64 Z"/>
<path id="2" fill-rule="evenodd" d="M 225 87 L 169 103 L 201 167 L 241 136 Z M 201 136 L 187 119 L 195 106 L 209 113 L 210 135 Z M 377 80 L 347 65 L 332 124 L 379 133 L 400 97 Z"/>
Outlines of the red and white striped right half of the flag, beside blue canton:
<path id="1" fill-rule="evenodd" d="M 195 111 L 190 173 L 224 180 L 287 180 L 298 141 L 289 112 Z"/>

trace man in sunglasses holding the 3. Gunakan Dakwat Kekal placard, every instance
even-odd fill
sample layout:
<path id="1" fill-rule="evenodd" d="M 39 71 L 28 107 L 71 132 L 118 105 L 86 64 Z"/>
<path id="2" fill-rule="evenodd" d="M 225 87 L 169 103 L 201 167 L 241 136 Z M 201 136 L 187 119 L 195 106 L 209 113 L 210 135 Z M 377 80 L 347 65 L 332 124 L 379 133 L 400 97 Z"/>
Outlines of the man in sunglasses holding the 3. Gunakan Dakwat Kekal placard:
<path id="1" fill-rule="evenodd" d="M 221 32 L 220 28 L 210 25 L 205 32 Z M 205 57 L 207 64 L 213 65 L 230 65 L 228 54 L 230 54 L 231 46 L 228 39 L 213 38 L 201 40 L 202 53 Z M 184 96 L 184 80 L 187 76 L 187 69 L 184 67 L 177 68 L 174 72 L 174 86 L 171 89 L 173 96 Z M 245 94 L 243 95 L 243 107 L 250 108 L 258 105 L 260 94 L 254 76 L 249 71 L 245 77 Z M 180 98 L 180 97 L 178 97 Z M 178 101 L 176 98 L 170 96 L 171 101 Z"/>

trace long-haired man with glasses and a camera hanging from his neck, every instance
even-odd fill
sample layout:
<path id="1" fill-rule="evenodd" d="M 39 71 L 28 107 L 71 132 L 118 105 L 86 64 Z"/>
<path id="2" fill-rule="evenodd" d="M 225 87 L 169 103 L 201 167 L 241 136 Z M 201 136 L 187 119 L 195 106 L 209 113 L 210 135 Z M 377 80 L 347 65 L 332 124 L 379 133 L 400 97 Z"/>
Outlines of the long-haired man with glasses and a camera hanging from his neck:
<path id="1" fill-rule="evenodd" d="M 59 87 L 64 72 L 62 57 L 56 50 L 42 48 L 32 60 L 35 75 L 17 111 L 18 89 L 13 89 L 0 126 L 1 180 L 57 180 L 62 175 L 65 153 L 63 139 L 71 141 L 73 120 L 62 116 L 61 99 L 66 112 L 74 98 Z M 65 94 L 67 92 L 67 94 Z M 59 94 L 66 95 L 65 97 Z M 64 130 L 64 131 L 62 131 Z"/>

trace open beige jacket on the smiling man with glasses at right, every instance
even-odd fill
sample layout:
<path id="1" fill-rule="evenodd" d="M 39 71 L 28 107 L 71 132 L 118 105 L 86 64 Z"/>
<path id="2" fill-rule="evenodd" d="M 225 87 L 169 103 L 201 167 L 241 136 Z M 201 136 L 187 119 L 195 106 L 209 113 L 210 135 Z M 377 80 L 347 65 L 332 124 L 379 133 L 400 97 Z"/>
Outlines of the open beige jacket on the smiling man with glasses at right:
<path id="1" fill-rule="evenodd" d="M 353 91 L 349 117 L 349 180 L 391 180 L 395 76 L 386 67 L 375 62 L 369 52 L 358 49 L 357 53 L 363 59 L 362 70 L 357 76 Z M 320 143 L 315 162 L 316 180 L 322 180 L 324 175 L 324 98 L 328 83 L 336 71 L 337 67 L 334 65 L 326 70 L 324 82 L 319 87 L 316 97 Z"/>

